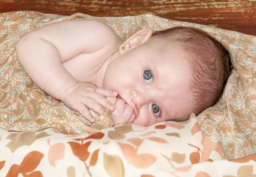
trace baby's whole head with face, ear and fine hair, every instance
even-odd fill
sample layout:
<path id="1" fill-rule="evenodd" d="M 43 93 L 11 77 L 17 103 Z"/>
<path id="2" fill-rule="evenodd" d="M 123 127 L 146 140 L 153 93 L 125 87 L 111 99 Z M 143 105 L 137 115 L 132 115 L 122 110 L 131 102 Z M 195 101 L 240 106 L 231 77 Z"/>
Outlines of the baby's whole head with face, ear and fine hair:
<path id="1" fill-rule="evenodd" d="M 227 49 L 189 27 L 139 31 L 117 53 L 102 87 L 116 90 L 136 115 L 126 122 L 141 126 L 200 114 L 218 101 L 232 70 Z"/>

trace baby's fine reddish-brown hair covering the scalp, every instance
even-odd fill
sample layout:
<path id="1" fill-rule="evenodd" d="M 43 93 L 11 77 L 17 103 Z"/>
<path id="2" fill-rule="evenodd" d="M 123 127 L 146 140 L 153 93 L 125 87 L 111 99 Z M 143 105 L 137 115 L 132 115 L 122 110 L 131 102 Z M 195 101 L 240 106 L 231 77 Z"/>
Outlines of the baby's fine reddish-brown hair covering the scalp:
<path id="1" fill-rule="evenodd" d="M 195 98 L 196 115 L 216 104 L 233 70 L 230 53 L 220 42 L 205 31 L 182 26 L 155 31 L 151 40 L 157 40 L 154 43 L 165 50 L 168 44 L 177 44 L 185 51 L 192 72 L 189 90 Z"/>

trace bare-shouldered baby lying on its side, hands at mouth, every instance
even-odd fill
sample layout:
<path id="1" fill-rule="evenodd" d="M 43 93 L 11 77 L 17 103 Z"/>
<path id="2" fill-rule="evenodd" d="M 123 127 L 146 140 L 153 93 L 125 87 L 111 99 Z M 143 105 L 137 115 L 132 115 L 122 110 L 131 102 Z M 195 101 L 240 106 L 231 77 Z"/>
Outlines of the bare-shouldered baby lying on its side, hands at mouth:
<path id="1" fill-rule="evenodd" d="M 206 32 L 175 27 L 138 31 L 125 42 L 103 22 L 69 20 L 21 38 L 17 57 L 49 96 L 94 122 L 183 121 L 214 105 L 232 70 L 230 54 Z"/>

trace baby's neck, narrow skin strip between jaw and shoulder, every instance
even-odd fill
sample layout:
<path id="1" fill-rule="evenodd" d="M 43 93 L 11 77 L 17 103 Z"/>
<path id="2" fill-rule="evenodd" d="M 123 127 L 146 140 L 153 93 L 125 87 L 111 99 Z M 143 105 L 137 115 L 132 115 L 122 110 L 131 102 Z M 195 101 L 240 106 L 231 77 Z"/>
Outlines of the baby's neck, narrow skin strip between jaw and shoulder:
<path id="1" fill-rule="evenodd" d="M 96 86 L 97 87 L 102 87 L 103 85 L 103 80 L 104 80 L 104 76 L 106 73 L 106 70 L 108 69 L 108 66 L 111 64 L 111 62 L 113 62 L 118 56 L 120 56 L 120 53 L 118 51 L 118 49 L 111 55 L 108 57 L 108 59 L 106 59 L 103 63 L 102 66 L 99 68 L 97 74 L 96 74 Z"/>

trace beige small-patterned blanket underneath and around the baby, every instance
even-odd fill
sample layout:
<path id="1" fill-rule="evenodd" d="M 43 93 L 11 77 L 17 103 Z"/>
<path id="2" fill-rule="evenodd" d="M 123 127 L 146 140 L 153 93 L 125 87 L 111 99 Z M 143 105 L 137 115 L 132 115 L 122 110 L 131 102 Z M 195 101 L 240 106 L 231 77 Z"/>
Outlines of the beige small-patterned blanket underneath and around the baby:
<path id="1" fill-rule="evenodd" d="M 112 125 L 111 116 L 100 116 L 96 124 L 89 124 L 60 101 L 47 96 L 29 79 L 17 61 L 15 43 L 20 37 L 43 25 L 80 18 L 107 23 L 123 40 L 143 28 L 158 31 L 174 26 L 193 26 L 209 32 L 230 50 L 235 70 L 227 82 L 223 99 L 197 117 L 201 130 L 220 145 L 224 158 L 256 152 L 256 37 L 154 15 L 100 18 L 84 14 L 66 17 L 26 11 L 0 14 L 1 127 L 16 131 L 52 127 L 67 134 L 81 134 Z"/>

